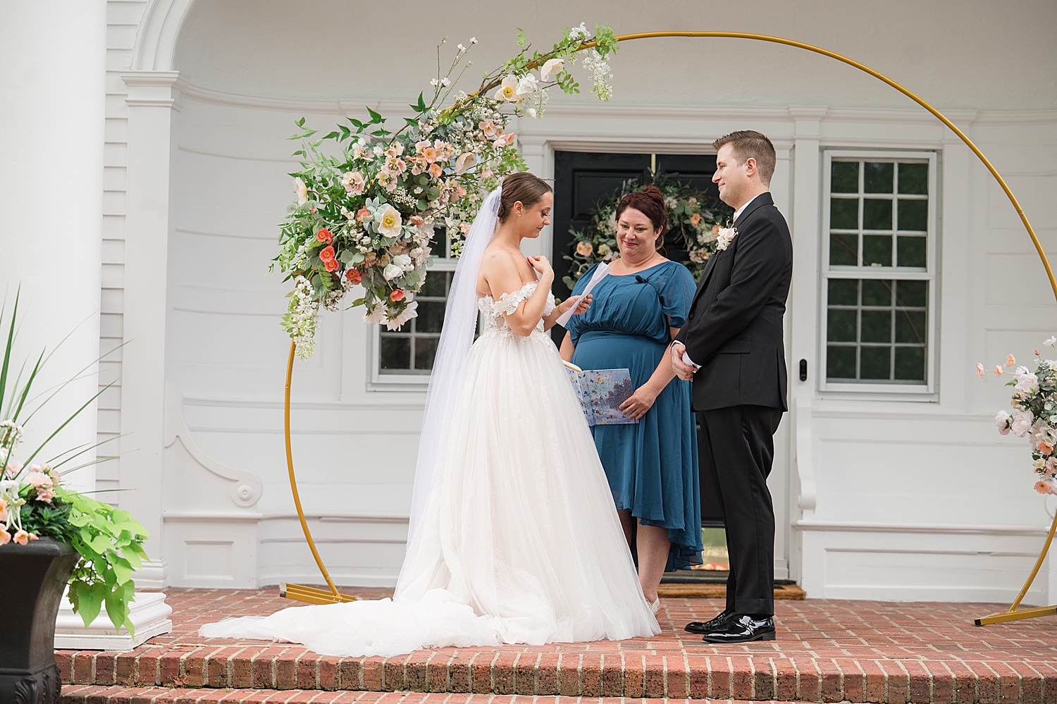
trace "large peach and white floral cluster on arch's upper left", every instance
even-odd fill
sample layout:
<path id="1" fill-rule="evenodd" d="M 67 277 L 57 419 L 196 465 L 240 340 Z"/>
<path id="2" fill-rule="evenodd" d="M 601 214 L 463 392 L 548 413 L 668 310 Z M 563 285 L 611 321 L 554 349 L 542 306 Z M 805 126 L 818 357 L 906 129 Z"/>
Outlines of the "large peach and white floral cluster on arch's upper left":
<path id="1" fill-rule="evenodd" d="M 578 58 L 592 74 L 592 92 L 602 100 L 612 95 L 606 59 L 616 40 L 607 26 L 595 25 L 594 35 L 582 23 L 568 27 L 544 53 L 530 53 L 519 30 L 518 55 L 486 74 L 475 92 L 453 96 L 477 39 L 458 44 L 442 75 L 445 43 L 438 47 L 432 96 L 427 101 L 420 93 L 400 129 L 389 129 L 369 108 L 369 119 L 350 118 L 319 138 L 303 117 L 296 123 L 300 131 L 291 140 L 301 142 L 294 155 L 302 161 L 291 175 L 297 201 L 288 208 L 273 266 L 294 281 L 282 328 L 301 358 L 314 350 L 320 307 L 337 310 L 355 286 L 363 296 L 349 308 L 364 305 L 367 323 L 395 330 L 416 316 L 414 294 L 437 245 L 458 257 L 484 194 L 525 169 L 511 121 L 542 116 L 550 88 L 579 93 L 569 71 Z"/>

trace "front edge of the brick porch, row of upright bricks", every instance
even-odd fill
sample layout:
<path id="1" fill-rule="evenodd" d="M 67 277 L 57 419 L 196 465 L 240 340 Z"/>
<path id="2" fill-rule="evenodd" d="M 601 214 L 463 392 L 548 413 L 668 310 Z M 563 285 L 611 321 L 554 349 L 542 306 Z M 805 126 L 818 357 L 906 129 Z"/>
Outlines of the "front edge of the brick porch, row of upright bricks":
<path id="1" fill-rule="evenodd" d="M 875 702 L 1057 704 L 1042 663 L 750 655 L 421 650 L 321 656 L 301 646 L 179 645 L 149 651 L 56 651 L 67 684 L 278 690 Z"/>

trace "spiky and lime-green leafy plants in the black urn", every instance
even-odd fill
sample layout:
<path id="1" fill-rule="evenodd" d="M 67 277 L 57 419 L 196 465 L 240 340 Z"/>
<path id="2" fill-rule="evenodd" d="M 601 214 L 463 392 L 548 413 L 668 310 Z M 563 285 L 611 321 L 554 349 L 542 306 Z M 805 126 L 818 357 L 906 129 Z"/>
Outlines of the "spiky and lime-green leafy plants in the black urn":
<path id="1" fill-rule="evenodd" d="M 109 441 L 73 447 L 48 462 L 30 464 L 62 428 L 113 384 L 105 386 L 73 411 L 27 456 L 25 466 L 15 462 L 15 451 L 26 424 L 40 408 L 53 402 L 69 384 L 82 378 L 85 372 L 98 362 L 93 360 L 57 387 L 32 395 L 35 391 L 34 383 L 51 354 L 54 354 L 54 350 L 51 353 L 45 350 L 35 360 L 27 359 L 23 363 L 15 377 L 10 379 L 10 372 L 13 371 L 12 351 L 18 329 L 18 303 L 19 295 L 16 295 L 11 320 L 6 326 L 6 307 L 0 309 L 0 329 L 7 329 L 3 362 L 0 365 L 0 460 L 3 462 L 0 464 L 0 544 L 15 542 L 25 545 L 31 540 L 40 538 L 69 543 L 80 554 L 70 578 L 69 598 L 74 611 L 88 626 L 95 620 L 105 605 L 114 628 L 120 629 L 124 626 L 129 633 L 134 633 L 129 618 L 129 603 L 133 599 L 135 590 L 132 571 L 148 559 L 143 549 L 148 537 L 147 531 L 132 519 L 129 512 L 62 486 L 62 478 L 58 471 L 62 468 L 64 474 L 69 474 L 110 459 L 97 458 L 69 468 L 66 466 Z"/>

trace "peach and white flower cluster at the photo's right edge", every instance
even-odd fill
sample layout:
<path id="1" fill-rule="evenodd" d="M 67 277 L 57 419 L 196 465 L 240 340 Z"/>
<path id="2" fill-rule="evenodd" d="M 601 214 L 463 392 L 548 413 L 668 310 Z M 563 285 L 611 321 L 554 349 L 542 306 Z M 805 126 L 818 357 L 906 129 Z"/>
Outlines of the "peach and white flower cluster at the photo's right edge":
<path id="1" fill-rule="evenodd" d="M 1046 347 L 1057 346 L 1057 337 L 1043 342 Z M 1035 350 L 1035 372 L 1027 367 L 1016 367 L 1010 354 L 1001 365 L 996 365 L 994 373 L 1013 375 L 1006 386 L 1013 387 L 1013 412 L 1000 410 L 995 416 L 995 425 L 1003 436 L 1013 434 L 1027 438 L 1032 445 L 1032 466 L 1039 479 L 1035 490 L 1039 494 L 1057 494 L 1057 359 L 1043 359 Z M 987 370 L 977 365 L 977 376 L 983 378 Z"/>

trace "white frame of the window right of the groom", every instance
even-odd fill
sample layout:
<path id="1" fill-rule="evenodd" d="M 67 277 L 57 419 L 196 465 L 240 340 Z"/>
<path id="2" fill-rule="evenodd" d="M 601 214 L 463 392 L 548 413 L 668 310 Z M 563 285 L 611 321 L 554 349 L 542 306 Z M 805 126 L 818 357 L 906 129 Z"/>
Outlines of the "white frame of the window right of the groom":
<path id="1" fill-rule="evenodd" d="M 928 169 L 928 235 L 926 243 L 926 266 L 922 271 L 917 267 L 900 266 L 840 266 L 831 271 L 830 268 L 830 198 L 832 193 L 831 178 L 833 175 L 832 162 L 834 158 L 838 160 L 861 160 L 861 161 L 884 161 L 884 162 L 927 162 Z M 859 178 L 864 174 L 859 173 Z M 818 390 L 828 392 L 836 396 L 873 394 L 877 396 L 897 397 L 902 400 L 934 401 L 937 399 L 937 378 L 939 370 L 938 346 L 939 346 L 939 247 L 940 247 L 940 214 L 939 207 L 941 197 L 939 192 L 939 154 L 935 151 L 922 149 L 920 151 L 886 151 L 886 150 L 859 150 L 859 149 L 826 149 L 822 152 L 822 189 L 821 189 L 821 264 L 819 266 L 819 300 L 818 315 L 820 325 L 818 326 L 818 369 L 816 370 L 819 379 Z M 897 223 L 893 223 L 897 226 Z M 894 246 L 895 242 L 893 242 Z M 829 311 L 827 301 L 829 299 L 830 279 L 893 279 L 893 280 L 924 280 L 929 282 L 928 288 L 928 319 L 926 327 L 928 330 L 928 341 L 925 353 L 925 384 L 848 384 L 827 382 L 827 352 L 829 328 Z"/>

